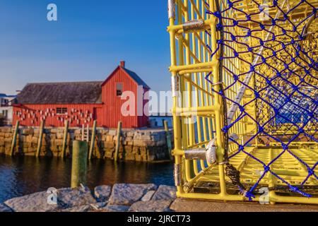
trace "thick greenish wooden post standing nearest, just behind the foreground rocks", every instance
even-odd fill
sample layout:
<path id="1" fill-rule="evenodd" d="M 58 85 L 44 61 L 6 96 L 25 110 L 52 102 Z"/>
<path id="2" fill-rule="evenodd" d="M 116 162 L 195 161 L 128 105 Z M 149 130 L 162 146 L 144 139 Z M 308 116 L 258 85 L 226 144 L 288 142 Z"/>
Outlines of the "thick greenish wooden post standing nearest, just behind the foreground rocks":
<path id="1" fill-rule="evenodd" d="M 88 143 L 73 141 L 71 188 L 86 185 Z"/>

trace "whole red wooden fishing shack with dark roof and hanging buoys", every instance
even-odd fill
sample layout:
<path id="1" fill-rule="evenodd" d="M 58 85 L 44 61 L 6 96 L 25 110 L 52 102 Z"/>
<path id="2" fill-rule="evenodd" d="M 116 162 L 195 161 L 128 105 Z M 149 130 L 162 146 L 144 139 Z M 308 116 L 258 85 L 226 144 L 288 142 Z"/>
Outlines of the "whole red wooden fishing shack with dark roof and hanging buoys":
<path id="1" fill-rule="evenodd" d="M 148 112 L 143 111 L 148 90 L 124 61 L 105 81 L 29 83 L 13 104 L 13 124 L 19 120 L 22 126 L 40 126 L 45 120 L 46 126 L 60 127 L 68 120 L 70 126 L 92 126 L 97 120 L 98 126 L 109 128 L 117 127 L 118 121 L 124 128 L 148 126 Z"/>

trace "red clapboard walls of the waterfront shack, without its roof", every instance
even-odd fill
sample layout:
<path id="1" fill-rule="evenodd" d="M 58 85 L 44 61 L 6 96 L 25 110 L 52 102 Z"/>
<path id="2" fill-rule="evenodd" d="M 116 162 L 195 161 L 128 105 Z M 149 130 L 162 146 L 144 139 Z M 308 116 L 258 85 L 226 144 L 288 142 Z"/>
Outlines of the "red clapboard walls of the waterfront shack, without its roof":
<path id="1" fill-rule="evenodd" d="M 122 105 L 127 100 L 117 96 L 117 83 L 122 83 L 123 92 L 134 93 L 134 115 L 122 115 Z M 102 84 L 102 104 L 13 105 L 13 124 L 19 120 L 21 126 L 40 126 L 42 119 L 45 119 L 45 126 L 61 127 L 67 119 L 70 126 L 93 126 L 93 121 L 97 120 L 98 126 L 108 128 L 116 128 L 118 121 L 122 121 L 123 128 L 144 127 L 148 126 L 148 116 L 138 116 L 137 100 L 139 98 L 144 107 L 148 100 L 143 100 L 143 95 L 147 91 L 148 88 L 143 88 L 143 93 L 138 94 L 138 83 L 118 66 Z M 67 114 L 57 114 L 57 108 L 67 108 Z"/>

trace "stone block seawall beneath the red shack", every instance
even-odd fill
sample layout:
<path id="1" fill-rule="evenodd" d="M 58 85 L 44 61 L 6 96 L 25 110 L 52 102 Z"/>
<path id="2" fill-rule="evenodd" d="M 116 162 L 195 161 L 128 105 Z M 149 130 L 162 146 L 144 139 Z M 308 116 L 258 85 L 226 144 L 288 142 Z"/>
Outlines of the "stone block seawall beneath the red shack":
<path id="1" fill-rule="evenodd" d="M 20 127 L 14 149 L 15 155 L 35 155 L 39 132 L 39 128 Z M 11 127 L 0 127 L 0 154 L 10 155 L 13 133 L 14 129 Z M 170 136 L 173 136 L 172 131 L 170 131 Z M 64 128 L 45 129 L 40 155 L 60 157 L 63 138 Z M 80 141 L 81 138 L 81 129 L 69 129 L 66 141 L 67 157 L 71 157 L 73 141 Z M 116 129 L 98 128 L 95 141 L 94 157 L 114 158 L 117 143 Z M 170 159 L 166 132 L 163 129 L 123 129 L 120 143 L 119 160 L 153 162 Z"/>

